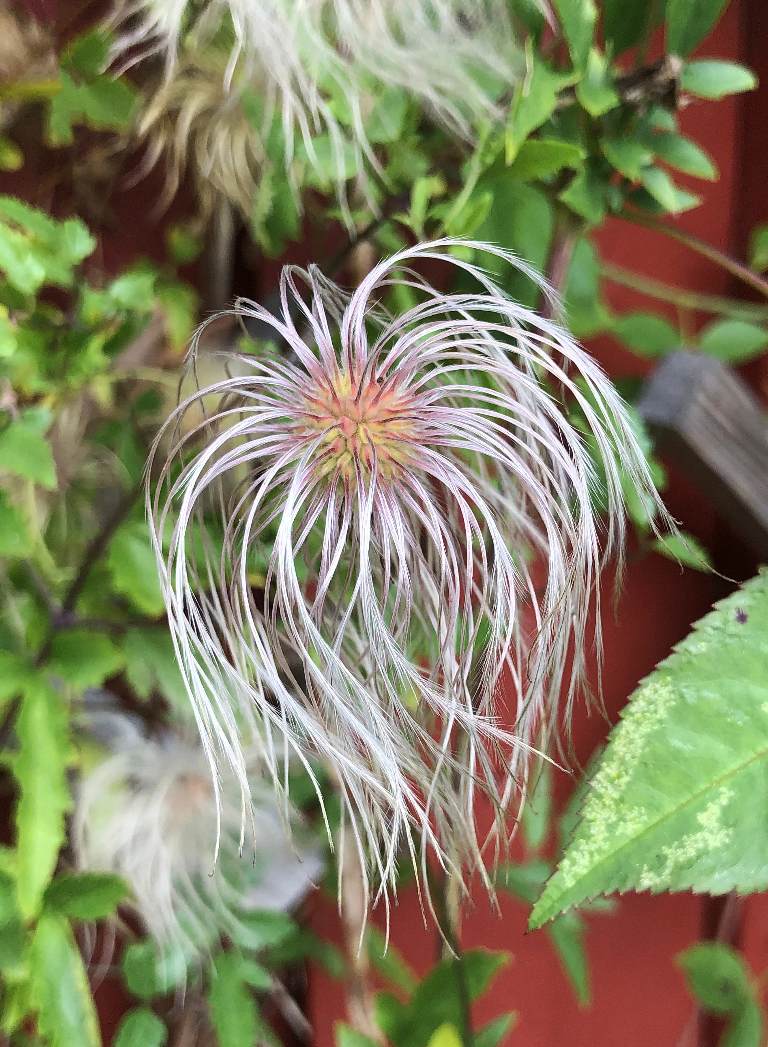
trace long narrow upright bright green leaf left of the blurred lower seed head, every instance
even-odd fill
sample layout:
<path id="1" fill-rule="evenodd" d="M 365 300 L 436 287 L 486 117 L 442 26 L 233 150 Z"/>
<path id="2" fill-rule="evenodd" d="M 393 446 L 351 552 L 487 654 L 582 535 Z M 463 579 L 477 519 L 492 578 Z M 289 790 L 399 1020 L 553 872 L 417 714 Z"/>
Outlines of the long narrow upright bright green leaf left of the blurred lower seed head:
<path id="1" fill-rule="evenodd" d="M 66 778 L 66 710 L 57 692 L 41 680 L 26 685 L 16 731 L 18 894 L 22 915 L 28 918 L 40 911 L 64 843 L 64 815 L 71 806 Z"/>

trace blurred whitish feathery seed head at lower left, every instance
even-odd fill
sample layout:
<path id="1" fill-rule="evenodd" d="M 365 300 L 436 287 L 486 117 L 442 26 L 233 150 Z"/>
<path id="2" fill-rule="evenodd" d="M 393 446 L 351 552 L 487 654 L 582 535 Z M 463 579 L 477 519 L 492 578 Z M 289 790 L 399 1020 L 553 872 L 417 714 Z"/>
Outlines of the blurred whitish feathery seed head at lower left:
<path id="1" fill-rule="evenodd" d="M 253 836 L 243 847 L 240 786 L 225 773 L 217 803 L 198 740 L 171 734 L 153 740 L 123 716 L 107 719 L 113 751 L 77 794 L 77 865 L 127 879 L 161 952 L 194 966 L 222 934 L 244 938 L 244 913 L 298 905 L 322 870 L 319 851 L 292 845 L 274 796 L 259 788 L 257 774 L 251 777 L 252 819 L 246 825 Z"/>

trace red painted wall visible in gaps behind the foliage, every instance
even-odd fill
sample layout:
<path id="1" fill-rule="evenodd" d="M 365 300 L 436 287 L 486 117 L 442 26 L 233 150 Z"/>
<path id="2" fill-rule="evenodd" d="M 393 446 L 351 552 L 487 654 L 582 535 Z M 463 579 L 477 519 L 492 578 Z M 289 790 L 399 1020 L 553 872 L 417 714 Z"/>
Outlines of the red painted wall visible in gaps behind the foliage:
<path id="1" fill-rule="evenodd" d="M 44 12 L 55 24 L 55 0 L 29 0 L 37 14 Z M 72 5 L 75 9 L 75 5 Z M 64 8 L 65 5 L 62 5 Z M 69 4 L 67 9 L 71 9 Z M 697 102 L 681 114 L 682 130 L 710 153 L 720 169 L 716 183 L 694 182 L 691 188 L 704 199 L 702 207 L 681 216 L 679 225 L 716 246 L 744 257 L 751 226 L 768 218 L 768 4 L 766 0 L 731 0 L 717 30 L 701 48 L 713 54 L 744 61 L 762 74 L 763 87 L 746 96 L 722 103 Z M 33 166 L 33 164 L 32 164 Z M 29 165 L 19 176 L 3 179 L 10 192 L 35 199 Z M 679 179 L 682 183 L 684 177 Z M 103 239 L 103 258 L 117 267 L 138 254 L 162 254 L 162 229 L 149 218 L 155 188 L 143 182 L 121 191 L 115 201 L 117 223 L 113 236 Z M 180 209 L 182 205 L 179 205 Z M 163 221 L 163 225 L 165 224 Z M 603 257 L 626 268 L 681 288 L 716 294 L 738 294 L 743 289 L 727 273 L 685 246 L 656 232 L 611 220 L 597 238 Z M 308 243 L 295 252 L 303 262 L 325 243 Z M 241 267 L 239 293 L 263 294 L 274 285 L 273 264 L 250 272 Z M 619 311 L 654 308 L 624 288 L 609 286 L 611 305 Z M 674 307 L 670 307 L 674 318 Z M 703 322 L 704 317 L 697 317 Z M 590 344 L 613 377 L 640 376 L 647 367 L 610 338 Z M 745 371 L 758 389 L 768 370 L 759 361 Z M 707 505 L 705 492 L 692 488 L 684 476 L 671 470 L 668 504 L 683 527 L 714 551 L 718 564 L 731 577 L 747 577 L 748 552 L 741 549 Z M 614 618 L 610 599 L 604 601 L 604 694 L 607 719 L 615 722 L 618 710 L 637 682 L 663 659 L 673 644 L 704 614 L 716 594 L 711 581 L 652 555 L 630 563 Z M 573 726 L 575 753 L 584 763 L 608 730 L 601 714 L 579 710 Z M 559 775 L 560 801 L 572 779 Z M 501 901 L 501 915 L 491 914 L 478 892 L 475 909 L 464 928 L 466 948 L 482 944 L 509 950 L 512 962 L 497 977 L 494 989 L 476 1008 L 478 1022 L 515 1009 L 518 1022 L 509 1038 L 515 1047 L 674 1047 L 691 1012 L 691 1000 L 674 965 L 675 955 L 710 930 L 716 912 L 711 903 L 690 894 L 674 896 L 629 895 L 611 915 L 590 918 L 587 946 L 592 966 L 594 1002 L 580 1010 L 558 961 L 542 932 L 524 934 L 525 911 L 511 900 Z M 323 936 L 341 940 L 335 903 L 316 898 L 311 920 Z M 743 910 L 740 940 L 755 971 L 768 964 L 768 906 L 762 897 L 749 899 Z M 404 891 L 394 910 L 392 941 L 419 973 L 435 958 L 433 928 L 425 930 L 417 899 Z M 105 985 L 98 994 L 105 1039 L 119 1017 L 119 1001 Z M 333 1023 L 344 1017 L 341 987 L 321 971 L 310 974 L 309 1011 L 318 1047 L 333 1044 Z"/>

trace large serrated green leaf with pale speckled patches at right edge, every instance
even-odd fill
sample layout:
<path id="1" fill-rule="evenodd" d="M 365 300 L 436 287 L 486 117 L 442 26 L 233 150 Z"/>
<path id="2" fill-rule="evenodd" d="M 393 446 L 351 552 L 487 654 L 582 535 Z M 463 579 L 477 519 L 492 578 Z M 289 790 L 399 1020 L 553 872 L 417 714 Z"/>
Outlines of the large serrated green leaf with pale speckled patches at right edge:
<path id="1" fill-rule="evenodd" d="M 697 622 L 611 733 L 582 820 L 532 914 L 614 891 L 768 887 L 768 574 Z"/>

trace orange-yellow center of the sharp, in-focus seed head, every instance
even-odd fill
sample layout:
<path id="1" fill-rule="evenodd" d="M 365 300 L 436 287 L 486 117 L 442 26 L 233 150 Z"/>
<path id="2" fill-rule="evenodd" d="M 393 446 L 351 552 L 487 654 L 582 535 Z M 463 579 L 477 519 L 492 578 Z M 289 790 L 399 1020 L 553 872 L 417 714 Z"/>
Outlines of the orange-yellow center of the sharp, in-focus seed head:
<path id="1" fill-rule="evenodd" d="M 384 474 L 404 464 L 415 436 L 412 398 L 369 380 L 361 388 L 340 375 L 307 401 L 308 435 L 322 433 L 323 471 L 353 473 L 356 463 Z"/>

